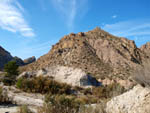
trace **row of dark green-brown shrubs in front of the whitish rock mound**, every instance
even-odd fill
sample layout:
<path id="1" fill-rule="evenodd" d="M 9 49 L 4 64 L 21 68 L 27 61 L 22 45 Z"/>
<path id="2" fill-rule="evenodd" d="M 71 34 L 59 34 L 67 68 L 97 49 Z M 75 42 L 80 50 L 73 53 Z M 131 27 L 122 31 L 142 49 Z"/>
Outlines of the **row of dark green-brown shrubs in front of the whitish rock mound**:
<path id="1" fill-rule="evenodd" d="M 35 77 L 32 79 L 20 78 L 16 82 L 17 88 L 32 93 L 71 94 L 71 86 L 59 83 L 48 77 Z"/>

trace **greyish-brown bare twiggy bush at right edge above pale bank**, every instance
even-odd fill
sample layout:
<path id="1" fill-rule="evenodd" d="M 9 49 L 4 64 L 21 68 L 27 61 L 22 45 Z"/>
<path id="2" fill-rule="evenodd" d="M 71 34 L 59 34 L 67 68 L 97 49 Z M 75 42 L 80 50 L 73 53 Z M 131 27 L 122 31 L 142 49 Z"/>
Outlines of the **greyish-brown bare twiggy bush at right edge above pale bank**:
<path id="1" fill-rule="evenodd" d="M 138 67 L 133 74 L 133 79 L 143 87 L 150 87 L 150 61 L 144 63 L 143 67 Z"/>

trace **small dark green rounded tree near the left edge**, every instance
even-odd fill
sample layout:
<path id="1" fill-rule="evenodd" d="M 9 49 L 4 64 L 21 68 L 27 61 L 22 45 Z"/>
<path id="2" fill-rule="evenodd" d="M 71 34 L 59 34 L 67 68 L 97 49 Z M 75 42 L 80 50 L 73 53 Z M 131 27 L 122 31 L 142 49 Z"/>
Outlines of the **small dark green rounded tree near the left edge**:
<path id="1" fill-rule="evenodd" d="M 18 65 L 16 61 L 10 61 L 4 66 L 4 71 L 7 73 L 6 76 L 13 77 L 18 75 Z"/>

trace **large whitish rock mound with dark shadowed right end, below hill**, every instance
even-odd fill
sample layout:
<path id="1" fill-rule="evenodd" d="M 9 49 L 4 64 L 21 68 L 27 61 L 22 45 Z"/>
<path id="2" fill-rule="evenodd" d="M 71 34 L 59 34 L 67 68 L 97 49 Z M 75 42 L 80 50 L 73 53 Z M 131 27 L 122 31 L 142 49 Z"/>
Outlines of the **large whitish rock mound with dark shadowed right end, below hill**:
<path id="1" fill-rule="evenodd" d="M 94 77 L 78 68 L 67 66 L 51 67 L 48 68 L 47 75 L 54 77 L 56 81 L 64 82 L 72 86 L 89 87 L 101 85 Z"/>

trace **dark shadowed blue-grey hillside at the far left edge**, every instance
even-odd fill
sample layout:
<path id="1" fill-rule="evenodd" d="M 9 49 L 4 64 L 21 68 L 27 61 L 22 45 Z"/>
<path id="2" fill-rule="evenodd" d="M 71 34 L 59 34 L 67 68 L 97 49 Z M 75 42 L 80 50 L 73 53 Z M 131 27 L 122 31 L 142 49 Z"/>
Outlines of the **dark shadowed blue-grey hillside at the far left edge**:
<path id="1" fill-rule="evenodd" d="M 0 46 L 0 69 L 2 69 L 4 65 L 12 59 L 13 57 L 11 54 Z"/>

